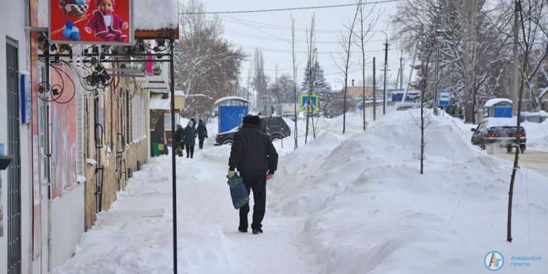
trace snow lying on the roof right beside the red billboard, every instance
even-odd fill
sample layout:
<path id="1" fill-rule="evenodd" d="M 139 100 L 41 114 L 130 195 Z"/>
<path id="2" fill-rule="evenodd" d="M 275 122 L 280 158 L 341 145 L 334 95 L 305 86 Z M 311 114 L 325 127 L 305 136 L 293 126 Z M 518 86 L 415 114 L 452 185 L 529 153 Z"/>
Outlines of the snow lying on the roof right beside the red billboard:
<path id="1" fill-rule="evenodd" d="M 176 29 L 178 24 L 179 6 L 177 0 L 134 1 L 135 29 Z"/>

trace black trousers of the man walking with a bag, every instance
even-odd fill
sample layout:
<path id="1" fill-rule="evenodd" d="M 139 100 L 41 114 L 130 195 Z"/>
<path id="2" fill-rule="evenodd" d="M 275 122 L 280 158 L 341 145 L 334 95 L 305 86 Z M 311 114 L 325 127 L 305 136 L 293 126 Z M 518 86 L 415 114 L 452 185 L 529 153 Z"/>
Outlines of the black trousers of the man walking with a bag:
<path id="1" fill-rule="evenodd" d="M 253 223 L 251 229 L 260 229 L 264 210 L 266 207 L 266 174 L 265 175 L 243 175 L 243 182 L 247 193 L 253 190 Z M 240 208 L 240 229 L 247 229 L 247 214 L 249 213 L 249 203 Z"/>

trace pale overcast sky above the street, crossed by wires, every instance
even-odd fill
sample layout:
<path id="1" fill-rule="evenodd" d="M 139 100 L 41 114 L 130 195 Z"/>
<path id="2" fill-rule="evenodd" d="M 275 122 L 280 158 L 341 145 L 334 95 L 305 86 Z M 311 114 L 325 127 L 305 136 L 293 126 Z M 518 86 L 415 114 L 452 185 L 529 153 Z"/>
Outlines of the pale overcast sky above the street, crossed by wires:
<path id="1" fill-rule="evenodd" d="M 209 11 L 236 11 L 236 10 L 265 10 L 277 8 L 298 8 L 319 5 L 340 5 L 353 3 L 353 0 L 334 1 L 334 0 L 277 0 L 277 1 L 257 1 L 257 0 L 202 0 Z M 374 27 L 374 30 L 384 30 L 388 34 L 388 38 L 392 35 L 392 27 L 388 24 L 391 15 L 397 10 L 397 2 L 382 3 L 377 5 L 366 5 L 366 10 L 375 8 L 384 11 L 383 16 Z M 340 31 L 344 29 L 344 24 L 348 23 L 351 16 L 356 12 L 356 7 L 345 8 L 327 8 L 316 10 L 298 10 L 292 11 L 292 15 L 296 19 L 296 39 L 297 62 L 299 63 L 299 73 L 297 75 L 299 82 L 303 78 L 303 71 L 306 66 L 306 34 L 304 29 L 310 25 L 312 14 L 316 15 L 317 42 L 316 47 L 319 51 L 319 61 L 325 71 L 327 81 L 334 88 L 340 89 L 343 84 L 340 83 L 344 79 L 336 66 L 336 62 L 340 62 L 339 53 L 343 51 L 337 43 Z M 222 14 L 221 19 L 225 27 L 225 38 L 234 43 L 235 46 L 244 49 L 250 58 L 253 56 L 253 51 L 256 48 L 262 49 L 265 61 L 265 73 L 271 79 L 274 79 L 275 64 L 279 64 L 279 73 L 288 73 L 292 75 L 292 54 L 291 54 L 291 20 L 290 12 L 262 12 L 249 14 Z M 373 65 L 371 61 L 376 58 L 377 73 L 381 72 L 382 64 L 384 64 L 384 40 L 386 36 L 382 32 L 375 32 L 375 36 L 366 45 L 366 53 L 370 64 L 366 64 L 367 74 L 372 74 Z M 356 79 L 356 86 L 361 82 L 360 69 L 360 49 L 358 46 L 353 47 L 352 66 L 349 79 Z M 405 54 L 405 53 L 404 53 Z M 399 45 L 390 45 L 388 51 L 388 71 L 387 75 L 391 79 L 397 77 L 399 69 L 399 58 L 401 49 Z M 334 61 L 335 58 L 335 61 Z M 406 56 L 404 55 L 404 58 Z M 408 75 L 410 60 L 404 61 L 404 69 Z M 247 82 L 247 74 L 249 71 L 249 61 L 246 61 L 242 68 L 242 78 Z M 404 79 L 407 82 L 407 79 Z M 349 80 L 349 85 L 351 84 Z"/>

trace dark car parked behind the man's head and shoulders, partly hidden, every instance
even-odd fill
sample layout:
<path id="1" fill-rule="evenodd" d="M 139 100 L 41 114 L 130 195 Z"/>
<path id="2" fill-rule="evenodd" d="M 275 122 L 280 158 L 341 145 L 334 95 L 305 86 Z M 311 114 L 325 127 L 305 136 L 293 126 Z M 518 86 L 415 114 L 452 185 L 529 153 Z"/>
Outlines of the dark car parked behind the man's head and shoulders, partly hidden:
<path id="1" fill-rule="evenodd" d="M 281 116 L 261 116 L 259 128 L 270 136 L 271 141 L 280 140 L 291 136 L 291 129 Z M 235 127 L 229 132 L 221 132 L 215 138 L 216 145 L 232 145 L 234 134 L 242 128 L 242 125 Z"/>

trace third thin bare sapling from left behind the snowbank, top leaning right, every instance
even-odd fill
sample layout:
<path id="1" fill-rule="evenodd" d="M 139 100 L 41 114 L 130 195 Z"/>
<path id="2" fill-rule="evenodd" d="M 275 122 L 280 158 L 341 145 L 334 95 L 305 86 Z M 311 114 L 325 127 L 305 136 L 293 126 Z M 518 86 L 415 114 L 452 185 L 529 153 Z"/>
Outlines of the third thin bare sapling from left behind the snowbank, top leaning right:
<path id="1" fill-rule="evenodd" d="M 349 24 L 345 25 L 345 29 L 347 29 L 348 33 L 345 34 L 342 32 L 339 35 L 338 38 L 338 44 L 341 48 L 343 48 L 343 53 L 340 53 L 340 64 L 336 62 L 336 65 L 338 66 L 338 69 L 343 73 L 345 80 L 345 92 L 344 92 L 344 101 L 343 101 L 343 134 L 346 132 L 347 128 L 347 88 L 348 88 L 348 69 L 351 64 L 351 55 L 352 55 L 352 44 L 353 44 L 353 36 L 354 36 L 354 28 L 356 27 L 356 21 L 358 19 L 358 13 L 360 12 L 360 7 L 362 5 L 358 5 L 358 8 L 356 8 L 356 13 L 349 21 Z"/>

